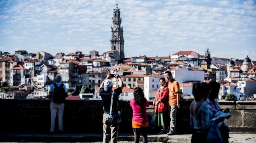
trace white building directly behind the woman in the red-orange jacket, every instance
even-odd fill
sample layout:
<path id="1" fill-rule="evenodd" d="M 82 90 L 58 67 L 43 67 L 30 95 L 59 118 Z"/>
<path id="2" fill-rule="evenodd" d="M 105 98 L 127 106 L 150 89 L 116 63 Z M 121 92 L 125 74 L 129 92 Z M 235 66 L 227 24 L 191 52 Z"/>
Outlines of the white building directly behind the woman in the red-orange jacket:
<path id="1" fill-rule="evenodd" d="M 147 75 L 144 77 L 144 95 L 147 100 L 155 97 L 156 92 L 152 91 L 157 91 L 160 88 L 159 78 L 163 77 L 163 75 Z"/>

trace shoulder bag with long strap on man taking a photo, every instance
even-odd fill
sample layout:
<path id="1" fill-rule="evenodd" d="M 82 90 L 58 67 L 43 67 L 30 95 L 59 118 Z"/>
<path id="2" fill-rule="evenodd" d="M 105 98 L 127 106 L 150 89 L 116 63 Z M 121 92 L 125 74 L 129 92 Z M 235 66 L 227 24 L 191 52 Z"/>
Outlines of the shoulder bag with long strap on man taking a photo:
<path id="1" fill-rule="evenodd" d="M 121 120 L 121 111 L 118 111 L 117 113 L 112 112 L 112 106 L 113 106 L 113 98 L 114 98 L 114 91 L 112 91 L 111 95 L 111 104 L 110 104 L 110 111 L 109 111 L 109 124 L 119 124 L 122 122 Z"/>

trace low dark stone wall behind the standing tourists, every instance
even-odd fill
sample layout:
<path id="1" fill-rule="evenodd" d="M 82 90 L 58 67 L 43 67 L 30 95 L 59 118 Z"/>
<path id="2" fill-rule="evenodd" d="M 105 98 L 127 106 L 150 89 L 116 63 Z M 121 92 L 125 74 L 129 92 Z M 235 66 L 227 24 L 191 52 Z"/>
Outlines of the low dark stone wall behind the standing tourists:
<path id="1" fill-rule="evenodd" d="M 132 108 L 129 101 L 120 101 L 123 107 L 120 132 L 132 132 Z M 177 112 L 177 132 L 191 134 L 189 106 L 191 101 L 181 101 Z M 152 101 L 148 118 L 153 114 Z M 222 109 L 229 107 L 232 116 L 225 122 L 233 133 L 256 133 L 256 102 L 220 102 Z M 65 132 L 102 132 L 101 100 L 66 100 L 63 124 Z M 49 132 L 50 108 L 48 100 L 0 99 L 0 132 Z M 58 124 L 56 124 L 57 128 Z"/>

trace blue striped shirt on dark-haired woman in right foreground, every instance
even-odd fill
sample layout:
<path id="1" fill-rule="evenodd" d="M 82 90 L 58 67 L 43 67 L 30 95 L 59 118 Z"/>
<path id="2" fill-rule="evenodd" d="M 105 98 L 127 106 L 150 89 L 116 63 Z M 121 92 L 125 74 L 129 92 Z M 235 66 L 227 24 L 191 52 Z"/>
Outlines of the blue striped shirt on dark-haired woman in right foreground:
<path id="1" fill-rule="evenodd" d="M 210 127 L 210 119 L 212 113 L 206 103 L 202 103 L 199 109 L 196 111 L 195 116 L 190 114 L 190 126 L 193 129 L 207 130 Z"/>

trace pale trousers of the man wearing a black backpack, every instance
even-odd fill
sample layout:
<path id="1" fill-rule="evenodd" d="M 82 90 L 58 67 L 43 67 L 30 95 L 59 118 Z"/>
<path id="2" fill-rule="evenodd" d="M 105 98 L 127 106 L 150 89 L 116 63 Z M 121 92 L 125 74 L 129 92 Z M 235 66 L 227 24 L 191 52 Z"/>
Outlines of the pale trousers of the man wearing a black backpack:
<path id="1" fill-rule="evenodd" d="M 54 132 L 55 118 L 56 118 L 57 114 L 58 114 L 58 119 L 59 119 L 59 130 L 63 131 L 62 116 L 63 116 L 63 112 L 64 112 L 64 103 L 56 104 L 52 101 L 50 108 L 51 108 L 51 114 L 52 114 L 50 132 Z"/>

